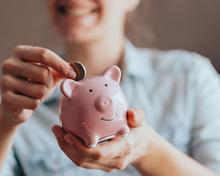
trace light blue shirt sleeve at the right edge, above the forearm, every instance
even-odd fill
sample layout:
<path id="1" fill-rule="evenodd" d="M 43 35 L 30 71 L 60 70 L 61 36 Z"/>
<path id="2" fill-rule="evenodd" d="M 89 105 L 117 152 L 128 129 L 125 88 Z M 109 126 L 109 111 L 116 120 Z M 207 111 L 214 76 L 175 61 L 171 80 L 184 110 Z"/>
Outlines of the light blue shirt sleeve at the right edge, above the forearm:
<path id="1" fill-rule="evenodd" d="M 196 55 L 194 70 L 195 111 L 191 156 L 220 173 L 220 76 L 209 60 Z"/>

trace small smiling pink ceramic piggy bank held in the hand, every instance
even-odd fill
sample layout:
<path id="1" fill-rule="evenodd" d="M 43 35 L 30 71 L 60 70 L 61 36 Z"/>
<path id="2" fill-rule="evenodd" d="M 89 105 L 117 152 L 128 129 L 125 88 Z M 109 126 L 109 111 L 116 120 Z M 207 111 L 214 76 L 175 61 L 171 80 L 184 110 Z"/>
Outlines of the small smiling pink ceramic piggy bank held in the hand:
<path id="1" fill-rule="evenodd" d="M 128 104 L 119 86 L 121 71 L 111 66 L 102 75 L 76 82 L 66 79 L 60 89 L 60 119 L 66 132 L 80 137 L 86 146 L 129 132 Z"/>

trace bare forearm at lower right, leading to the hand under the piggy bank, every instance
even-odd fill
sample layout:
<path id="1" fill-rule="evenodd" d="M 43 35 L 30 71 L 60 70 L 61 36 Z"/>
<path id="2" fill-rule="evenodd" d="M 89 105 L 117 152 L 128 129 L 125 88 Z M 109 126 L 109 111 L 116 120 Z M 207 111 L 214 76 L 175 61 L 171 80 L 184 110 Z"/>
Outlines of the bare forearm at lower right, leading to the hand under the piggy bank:
<path id="1" fill-rule="evenodd" d="M 216 176 L 215 173 L 184 155 L 171 144 L 155 134 L 149 153 L 134 166 L 144 176 Z M 160 139 L 159 139 L 160 138 Z M 159 139 L 159 140 L 158 140 Z"/>

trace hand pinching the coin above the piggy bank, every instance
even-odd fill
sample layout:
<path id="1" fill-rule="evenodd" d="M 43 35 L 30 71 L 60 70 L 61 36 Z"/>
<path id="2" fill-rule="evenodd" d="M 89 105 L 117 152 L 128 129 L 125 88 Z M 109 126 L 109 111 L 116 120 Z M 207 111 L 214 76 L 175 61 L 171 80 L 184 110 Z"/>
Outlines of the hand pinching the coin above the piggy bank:
<path id="1" fill-rule="evenodd" d="M 31 46 L 17 46 L 2 72 L 0 117 L 12 126 L 30 117 L 58 78 L 75 78 L 70 65 L 55 53 Z"/>

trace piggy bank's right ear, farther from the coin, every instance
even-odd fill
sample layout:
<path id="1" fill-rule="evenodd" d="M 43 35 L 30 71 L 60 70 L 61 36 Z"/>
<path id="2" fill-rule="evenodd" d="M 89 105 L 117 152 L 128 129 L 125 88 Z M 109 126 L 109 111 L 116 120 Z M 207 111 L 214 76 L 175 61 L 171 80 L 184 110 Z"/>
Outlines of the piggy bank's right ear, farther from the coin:
<path id="1" fill-rule="evenodd" d="M 113 65 L 111 67 L 109 67 L 104 73 L 103 75 L 105 77 L 109 77 L 112 78 L 113 80 L 115 80 L 117 83 L 120 82 L 121 79 L 121 70 L 118 66 Z"/>

